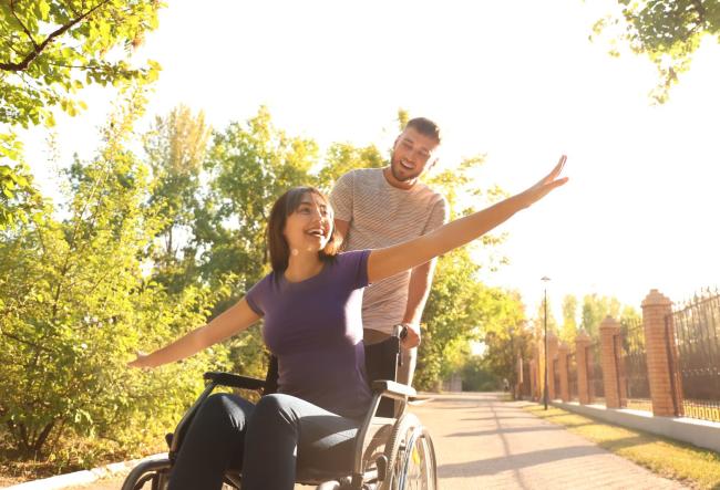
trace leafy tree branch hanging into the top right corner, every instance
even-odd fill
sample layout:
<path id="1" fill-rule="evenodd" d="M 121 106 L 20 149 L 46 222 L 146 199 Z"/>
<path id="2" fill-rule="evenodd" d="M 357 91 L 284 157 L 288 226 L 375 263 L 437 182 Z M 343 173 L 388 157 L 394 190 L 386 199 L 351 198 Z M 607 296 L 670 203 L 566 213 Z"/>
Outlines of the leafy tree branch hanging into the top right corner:
<path id="1" fill-rule="evenodd" d="M 618 54 L 618 43 L 647 55 L 660 77 L 651 96 L 664 103 L 678 75 L 690 67 L 700 42 L 720 34 L 720 1 L 618 0 L 618 13 L 597 21 L 594 33 L 610 31 L 614 55 Z"/>

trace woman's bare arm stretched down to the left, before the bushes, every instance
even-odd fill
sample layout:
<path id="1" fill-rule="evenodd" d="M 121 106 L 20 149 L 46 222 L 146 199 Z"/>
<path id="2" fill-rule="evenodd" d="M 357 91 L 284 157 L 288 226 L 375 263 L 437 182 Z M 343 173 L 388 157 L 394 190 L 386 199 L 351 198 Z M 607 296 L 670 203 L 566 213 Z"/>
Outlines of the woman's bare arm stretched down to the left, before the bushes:
<path id="1" fill-rule="evenodd" d="M 213 344 L 217 344 L 227 337 L 243 332 L 259 319 L 260 316 L 250 309 L 247 300 L 243 298 L 213 319 L 207 325 L 195 329 L 152 354 L 137 354 L 137 358 L 128 363 L 128 365 L 132 367 L 156 367 L 184 359 Z"/>

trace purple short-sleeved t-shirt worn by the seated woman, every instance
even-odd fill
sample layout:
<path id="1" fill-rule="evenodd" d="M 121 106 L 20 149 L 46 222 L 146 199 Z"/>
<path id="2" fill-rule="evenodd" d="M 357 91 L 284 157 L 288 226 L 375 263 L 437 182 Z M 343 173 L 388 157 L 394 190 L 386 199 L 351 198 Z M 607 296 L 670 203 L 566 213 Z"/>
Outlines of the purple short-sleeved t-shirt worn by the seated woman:
<path id="1" fill-rule="evenodd" d="M 247 303 L 265 317 L 265 344 L 278 358 L 279 393 L 346 417 L 368 410 L 362 290 L 369 256 L 340 253 L 300 282 L 271 272 L 248 291 Z"/>

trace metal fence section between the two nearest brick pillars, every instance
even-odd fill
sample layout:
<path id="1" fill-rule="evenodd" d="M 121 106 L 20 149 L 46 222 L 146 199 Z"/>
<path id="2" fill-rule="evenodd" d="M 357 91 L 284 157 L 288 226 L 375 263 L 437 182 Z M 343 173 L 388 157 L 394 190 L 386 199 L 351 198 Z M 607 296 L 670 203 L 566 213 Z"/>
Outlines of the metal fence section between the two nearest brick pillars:
<path id="1" fill-rule="evenodd" d="M 645 350 L 642 320 L 624 320 L 620 323 L 618 373 L 620 377 L 620 404 L 636 410 L 652 411 L 650 380 Z"/>

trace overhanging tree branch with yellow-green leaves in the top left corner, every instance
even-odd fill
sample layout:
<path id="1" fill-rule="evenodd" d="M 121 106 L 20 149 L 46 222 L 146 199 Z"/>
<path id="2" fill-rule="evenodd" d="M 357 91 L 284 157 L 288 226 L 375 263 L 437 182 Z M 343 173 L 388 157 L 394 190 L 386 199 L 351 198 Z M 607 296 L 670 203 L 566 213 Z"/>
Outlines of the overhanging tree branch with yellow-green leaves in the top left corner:
<path id="1" fill-rule="evenodd" d="M 17 165 L 22 148 L 12 126 L 52 126 L 56 107 L 78 114 L 85 104 L 76 94 L 86 85 L 153 81 L 157 63 L 133 67 L 127 59 L 157 27 L 160 6 L 156 0 L 0 2 L 0 227 L 27 219 L 28 204 L 39 196 Z"/>

